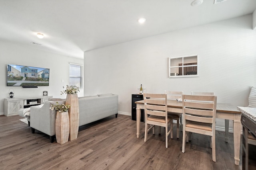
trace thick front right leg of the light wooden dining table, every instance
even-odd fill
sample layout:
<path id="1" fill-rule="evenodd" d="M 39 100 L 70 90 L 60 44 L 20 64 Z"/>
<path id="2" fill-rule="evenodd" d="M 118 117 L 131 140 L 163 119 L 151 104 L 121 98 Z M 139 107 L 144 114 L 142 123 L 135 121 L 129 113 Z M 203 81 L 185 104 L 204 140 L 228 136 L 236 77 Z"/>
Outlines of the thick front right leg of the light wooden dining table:
<path id="1" fill-rule="evenodd" d="M 240 151 L 240 131 L 241 131 L 241 114 L 234 115 L 233 127 L 234 127 L 234 159 L 235 164 L 239 165 L 239 151 Z"/>

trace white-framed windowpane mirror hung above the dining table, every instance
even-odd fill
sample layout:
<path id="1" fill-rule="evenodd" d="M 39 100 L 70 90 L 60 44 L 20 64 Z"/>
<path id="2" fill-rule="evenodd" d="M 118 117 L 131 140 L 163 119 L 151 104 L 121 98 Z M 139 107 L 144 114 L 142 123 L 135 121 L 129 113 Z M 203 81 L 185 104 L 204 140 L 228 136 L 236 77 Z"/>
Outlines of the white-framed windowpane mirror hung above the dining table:
<path id="1" fill-rule="evenodd" d="M 197 77 L 198 55 L 169 57 L 169 78 Z"/>

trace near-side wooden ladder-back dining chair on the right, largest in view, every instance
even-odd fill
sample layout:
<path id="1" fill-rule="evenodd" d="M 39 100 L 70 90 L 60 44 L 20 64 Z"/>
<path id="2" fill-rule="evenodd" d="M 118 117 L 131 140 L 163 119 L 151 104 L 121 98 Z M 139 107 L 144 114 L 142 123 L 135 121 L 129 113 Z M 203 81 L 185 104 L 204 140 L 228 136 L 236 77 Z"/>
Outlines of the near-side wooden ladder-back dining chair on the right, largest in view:
<path id="1" fill-rule="evenodd" d="M 182 152 L 185 152 L 189 132 L 211 137 L 212 160 L 216 162 L 215 120 L 217 96 L 182 95 L 183 138 Z"/>

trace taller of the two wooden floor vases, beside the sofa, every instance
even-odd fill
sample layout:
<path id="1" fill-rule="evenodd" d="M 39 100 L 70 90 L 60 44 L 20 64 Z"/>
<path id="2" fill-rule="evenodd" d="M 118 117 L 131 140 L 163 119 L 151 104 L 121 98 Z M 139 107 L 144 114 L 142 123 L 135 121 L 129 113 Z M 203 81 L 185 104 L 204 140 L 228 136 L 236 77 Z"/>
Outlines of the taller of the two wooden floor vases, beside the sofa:
<path id="1" fill-rule="evenodd" d="M 69 140 L 77 138 L 79 128 L 79 103 L 77 94 L 67 94 L 66 105 L 71 107 L 68 109 L 70 132 Z"/>

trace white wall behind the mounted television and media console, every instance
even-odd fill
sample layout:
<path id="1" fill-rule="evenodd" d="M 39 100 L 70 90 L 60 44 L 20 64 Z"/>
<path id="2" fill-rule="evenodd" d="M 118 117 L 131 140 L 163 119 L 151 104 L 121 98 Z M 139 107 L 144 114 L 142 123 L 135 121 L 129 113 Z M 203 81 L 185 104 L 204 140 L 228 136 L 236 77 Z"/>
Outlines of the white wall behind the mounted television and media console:
<path id="1" fill-rule="evenodd" d="M 40 51 L 30 46 L 0 41 L 0 80 L 2 80 L 0 82 L 0 115 L 4 114 L 4 98 L 9 97 L 10 88 L 14 89 L 14 98 L 42 96 L 44 90 L 48 91 L 48 96 L 66 98 L 66 95 L 60 95 L 60 91 L 63 90 L 63 86 L 69 84 L 69 63 L 83 64 L 84 61 L 83 59 Z M 50 68 L 50 85 L 38 86 L 38 88 L 6 86 L 7 64 Z M 80 90 L 78 96 L 83 96 L 83 94 L 83 90 Z"/>

